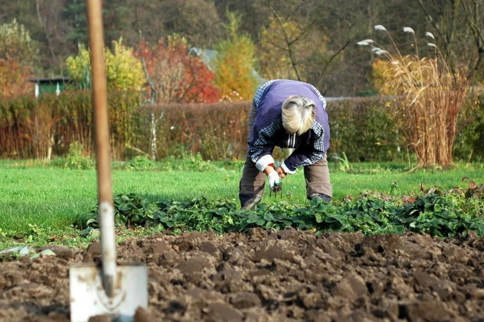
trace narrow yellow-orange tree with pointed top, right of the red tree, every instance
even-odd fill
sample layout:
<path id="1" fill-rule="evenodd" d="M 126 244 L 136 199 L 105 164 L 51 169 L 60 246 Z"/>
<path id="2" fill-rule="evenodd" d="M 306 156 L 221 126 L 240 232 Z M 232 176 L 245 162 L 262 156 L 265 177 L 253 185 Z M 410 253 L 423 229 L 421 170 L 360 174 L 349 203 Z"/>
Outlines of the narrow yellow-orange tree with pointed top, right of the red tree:
<path id="1" fill-rule="evenodd" d="M 250 100 L 258 85 L 254 71 L 255 45 L 245 34 L 239 32 L 241 18 L 228 13 L 227 39 L 215 47 L 215 84 L 226 100 Z"/>

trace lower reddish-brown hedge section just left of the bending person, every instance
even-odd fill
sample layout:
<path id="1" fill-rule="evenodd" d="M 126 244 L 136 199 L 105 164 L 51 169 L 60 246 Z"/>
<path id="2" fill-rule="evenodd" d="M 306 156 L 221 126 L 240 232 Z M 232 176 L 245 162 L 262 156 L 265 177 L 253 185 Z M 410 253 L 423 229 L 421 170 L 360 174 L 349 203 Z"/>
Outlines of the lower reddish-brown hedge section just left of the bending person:
<path id="1" fill-rule="evenodd" d="M 200 153 L 205 160 L 240 159 L 247 149 L 247 116 L 250 102 L 164 104 L 138 109 L 141 131 L 138 148 L 151 151 L 151 116 L 156 122 L 156 157 Z M 149 138 L 149 140 L 146 140 Z"/>

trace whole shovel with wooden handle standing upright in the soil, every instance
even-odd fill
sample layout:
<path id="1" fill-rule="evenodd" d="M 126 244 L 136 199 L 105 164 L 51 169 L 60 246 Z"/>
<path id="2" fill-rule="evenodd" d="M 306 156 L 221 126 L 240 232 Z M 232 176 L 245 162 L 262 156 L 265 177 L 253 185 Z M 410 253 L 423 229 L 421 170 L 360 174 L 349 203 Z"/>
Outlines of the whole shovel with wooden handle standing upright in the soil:
<path id="1" fill-rule="evenodd" d="M 143 263 L 116 263 L 101 0 L 88 0 L 87 4 L 101 261 L 75 264 L 69 269 L 71 322 L 88 322 L 97 315 L 131 322 L 138 307 L 148 307 L 148 278 Z"/>

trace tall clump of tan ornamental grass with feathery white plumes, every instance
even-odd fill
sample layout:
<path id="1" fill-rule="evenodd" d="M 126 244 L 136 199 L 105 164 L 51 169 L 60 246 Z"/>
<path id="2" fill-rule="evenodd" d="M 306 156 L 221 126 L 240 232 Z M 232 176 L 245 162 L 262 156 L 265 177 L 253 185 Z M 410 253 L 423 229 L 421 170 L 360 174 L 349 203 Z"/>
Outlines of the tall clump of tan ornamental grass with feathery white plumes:
<path id="1" fill-rule="evenodd" d="M 451 73 L 431 32 L 425 36 L 434 41 L 426 43 L 433 49 L 432 55 L 421 58 L 414 29 L 402 29 L 412 41 L 407 55 L 385 27 L 376 25 L 374 29 L 388 37 L 388 49 L 373 40 L 357 44 L 370 46 L 376 56 L 372 64 L 375 86 L 382 94 L 395 97 L 386 106 L 408 148 L 415 152 L 417 167 L 451 165 L 457 117 L 469 93 L 465 73 Z"/>

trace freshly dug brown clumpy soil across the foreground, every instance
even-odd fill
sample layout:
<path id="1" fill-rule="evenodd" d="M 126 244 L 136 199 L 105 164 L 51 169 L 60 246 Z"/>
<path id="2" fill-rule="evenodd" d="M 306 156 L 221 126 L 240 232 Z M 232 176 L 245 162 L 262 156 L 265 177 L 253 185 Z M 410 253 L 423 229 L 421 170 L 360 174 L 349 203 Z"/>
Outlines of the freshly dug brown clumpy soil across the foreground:
<path id="1" fill-rule="evenodd" d="M 0 321 L 69 321 L 69 264 L 88 249 L 0 263 Z M 121 243 L 147 263 L 149 307 L 135 321 L 484 321 L 484 240 L 428 235 L 157 234 Z M 106 317 L 91 318 L 107 321 Z"/>

